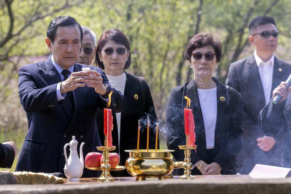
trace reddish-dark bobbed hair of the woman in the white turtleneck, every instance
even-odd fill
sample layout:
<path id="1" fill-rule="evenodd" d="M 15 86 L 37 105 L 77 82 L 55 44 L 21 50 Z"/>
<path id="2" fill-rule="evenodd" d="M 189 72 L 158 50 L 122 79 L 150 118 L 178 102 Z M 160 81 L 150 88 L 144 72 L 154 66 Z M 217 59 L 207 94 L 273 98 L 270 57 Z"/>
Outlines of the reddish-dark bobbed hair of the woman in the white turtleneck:
<path id="1" fill-rule="evenodd" d="M 101 69 L 104 69 L 104 64 L 99 59 L 98 53 L 101 53 L 103 46 L 106 44 L 108 40 L 112 40 L 117 44 L 124 45 L 125 48 L 130 51 L 129 41 L 126 38 L 125 34 L 118 29 L 111 29 L 106 30 L 102 33 L 97 43 L 97 50 L 96 50 L 96 57 L 95 57 L 95 64 L 98 65 Z M 128 69 L 131 63 L 131 57 L 129 53 L 129 57 L 125 62 L 124 69 Z"/>

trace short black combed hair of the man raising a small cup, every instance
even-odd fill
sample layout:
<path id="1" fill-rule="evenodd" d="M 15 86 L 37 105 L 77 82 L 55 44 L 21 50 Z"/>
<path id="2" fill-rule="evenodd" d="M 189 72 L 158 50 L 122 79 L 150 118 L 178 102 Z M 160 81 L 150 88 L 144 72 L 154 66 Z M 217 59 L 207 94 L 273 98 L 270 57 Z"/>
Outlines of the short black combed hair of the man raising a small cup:
<path id="1" fill-rule="evenodd" d="M 80 30 L 81 42 L 82 42 L 83 30 L 82 30 L 81 25 L 75 20 L 75 18 L 72 18 L 70 16 L 58 16 L 49 23 L 48 30 L 46 31 L 46 37 L 51 39 L 52 43 L 54 43 L 55 34 L 59 26 L 62 26 L 62 27 L 77 26 Z"/>

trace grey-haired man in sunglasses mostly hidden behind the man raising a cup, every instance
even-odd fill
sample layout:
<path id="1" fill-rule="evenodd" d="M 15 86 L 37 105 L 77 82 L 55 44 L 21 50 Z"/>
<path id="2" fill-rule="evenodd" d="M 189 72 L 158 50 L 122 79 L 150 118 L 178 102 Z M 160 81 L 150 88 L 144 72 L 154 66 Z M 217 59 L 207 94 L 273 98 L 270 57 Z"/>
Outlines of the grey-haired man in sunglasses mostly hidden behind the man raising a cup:
<path id="1" fill-rule="evenodd" d="M 77 63 L 84 65 L 91 65 L 96 54 L 96 35 L 85 26 L 81 26 L 83 30 L 83 39 L 81 44 L 81 51 Z"/>

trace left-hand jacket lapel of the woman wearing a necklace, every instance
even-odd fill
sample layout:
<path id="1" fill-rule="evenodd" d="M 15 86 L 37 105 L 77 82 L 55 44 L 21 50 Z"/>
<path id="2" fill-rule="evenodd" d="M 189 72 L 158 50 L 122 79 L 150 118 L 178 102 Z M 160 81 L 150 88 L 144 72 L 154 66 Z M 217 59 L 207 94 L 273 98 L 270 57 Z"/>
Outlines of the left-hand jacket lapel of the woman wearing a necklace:
<path id="1" fill-rule="evenodd" d="M 191 99 L 190 109 L 192 109 L 193 116 L 194 116 L 196 141 L 199 141 L 199 144 L 201 143 L 202 145 L 206 146 L 204 120 L 203 120 L 200 101 L 198 97 L 197 86 L 194 79 L 192 79 L 189 82 L 189 84 L 186 86 L 185 93 L 186 93 L 186 96 Z M 187 100 L 184 99 L 184 96 L 182 96 L 182 98 L 183 98 L 182 109 L 184 109 L 186 107 Z"/>

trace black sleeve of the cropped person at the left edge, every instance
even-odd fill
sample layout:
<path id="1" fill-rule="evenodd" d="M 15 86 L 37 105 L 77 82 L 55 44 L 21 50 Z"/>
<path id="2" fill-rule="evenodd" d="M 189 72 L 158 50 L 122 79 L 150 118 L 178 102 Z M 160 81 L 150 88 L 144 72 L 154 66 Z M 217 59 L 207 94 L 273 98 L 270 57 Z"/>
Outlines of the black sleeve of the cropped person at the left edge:
<path id="1" fill-rule="evenodd" d="M 14 149 L 9 144 L 0 143 L 0 168 L 11 168 L 14 161 Z"/>

